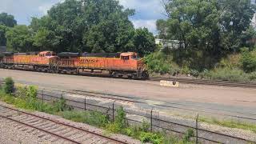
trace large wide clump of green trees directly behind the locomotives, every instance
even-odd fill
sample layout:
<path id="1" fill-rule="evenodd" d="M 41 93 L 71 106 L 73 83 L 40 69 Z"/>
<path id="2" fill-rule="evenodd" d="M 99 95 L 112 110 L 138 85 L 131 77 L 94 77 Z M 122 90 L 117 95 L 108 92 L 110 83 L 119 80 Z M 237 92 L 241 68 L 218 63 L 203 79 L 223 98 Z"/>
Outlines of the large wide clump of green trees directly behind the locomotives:
<path id="1" fill-rule="evenodd" d="M 129 20 L 133 14 L 134 10 L 124 9 L 117 0 L 66 0 L 53 6 L 46 16 L 32 18 L 34 46 L 39 50 L 47 46 L 55 52 L 136 50 L 136 31 Z"/>

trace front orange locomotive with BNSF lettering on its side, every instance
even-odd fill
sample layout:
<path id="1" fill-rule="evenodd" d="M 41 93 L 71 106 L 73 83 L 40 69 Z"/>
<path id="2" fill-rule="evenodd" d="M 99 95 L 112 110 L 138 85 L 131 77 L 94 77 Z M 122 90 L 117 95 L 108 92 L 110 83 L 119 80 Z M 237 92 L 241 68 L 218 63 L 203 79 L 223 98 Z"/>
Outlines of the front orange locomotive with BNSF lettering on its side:
<path id="1" fill-rule="evenodd" d="M 106 70 L 113 77 L 148 78 L 146 66 L 136 53 L 60 53 L 58 58 L 58 70 L 64 73 L 79 73 L 81 70 L 94 73 L 95 70 Z"/>

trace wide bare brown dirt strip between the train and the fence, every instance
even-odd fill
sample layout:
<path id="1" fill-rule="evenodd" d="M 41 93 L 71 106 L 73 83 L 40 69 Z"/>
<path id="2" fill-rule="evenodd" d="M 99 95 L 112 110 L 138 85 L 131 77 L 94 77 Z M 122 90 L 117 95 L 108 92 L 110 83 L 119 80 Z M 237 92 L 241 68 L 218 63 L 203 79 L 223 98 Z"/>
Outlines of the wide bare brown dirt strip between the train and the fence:
<path id="1" fill-rule="evenodd" d="M 182 83 L 179 88 L 170 88 L 160 86 L 159 82 L 0 69 L 0 78 L 5 77 L 12 77 L 16 82 L 38 86 L 70 90 L 95 90 L 160 102 L 238 110 L 241 113 L 256 116 L 256 89 Z"/>

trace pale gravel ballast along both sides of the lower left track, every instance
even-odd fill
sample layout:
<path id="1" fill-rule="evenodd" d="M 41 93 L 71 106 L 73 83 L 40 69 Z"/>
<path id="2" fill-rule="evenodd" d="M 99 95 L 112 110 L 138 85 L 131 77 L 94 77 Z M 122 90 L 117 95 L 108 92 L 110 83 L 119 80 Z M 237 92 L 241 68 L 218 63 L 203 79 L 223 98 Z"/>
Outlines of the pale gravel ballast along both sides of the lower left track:
<path id="1" fill-rule="evenodd" d="M 0 102 L 2 106 L 9 106 L 14 107 L 11 105 L 6 104 L 5 102 Z M 79 122 L 72 122 L 70 120 L 66 120 L 64 118 L 61 118 L 59 116 L 51 115 L 51 114 L 45 114 L 41 112 L 30 112 L 31 114 L 36 114 L 41 117 L 50 118 L 54 121 L 63 122 L 66 124 L 69 124 L 71 126 L 80 127 L 84 130 L 89 130 L 91 132 L 102 134 L 110 137 L 118 139 L 122 142 L 127 143 L 141 143 L 138 140 L 134 140 L 133 138 L 127 137 L 122 134 L 109 134 L 105 130 L 98 129 L 94 126 L 89 126 L 84 123 Z M 37 143 L 62 143 L 61 139 L 56 139 L 56 137 L 51 136 L 49 134 L 45 134 L 42 131 L 34 130 L 33 128 L 30 128 L 29 126 L 24 126 L 22 124 L 19 124 L 17 122 L 12 122 L 5 118 L 0 118 L 0 143 L 3 144 L 13 144 L 13 143 L 24 143 L 24 144 L 37 144 Z"/>

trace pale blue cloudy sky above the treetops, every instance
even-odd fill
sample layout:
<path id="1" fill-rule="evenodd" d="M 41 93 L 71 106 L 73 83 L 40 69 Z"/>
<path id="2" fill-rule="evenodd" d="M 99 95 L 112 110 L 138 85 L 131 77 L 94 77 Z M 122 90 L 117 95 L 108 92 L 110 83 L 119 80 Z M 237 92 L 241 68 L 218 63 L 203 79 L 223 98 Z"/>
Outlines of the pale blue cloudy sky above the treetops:
<path id="1" fill-rule="evenodd" d="M 0 13 L 14 15 L 18 24 L 29 25 L 31 17 L 42 17 L 47 10 L 64 0 L 0 0 Z M 130 18 L 136 28 L 146 27 L 157 34 L 155 22 L 159 18 L 166 18 L 160 0 L 118 0 L 125 8 L 136 10 Z"/>

